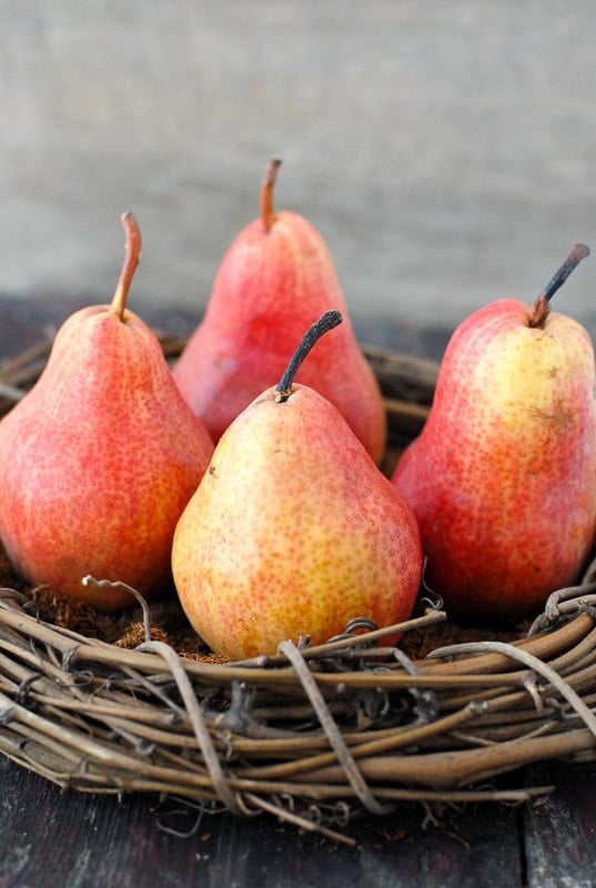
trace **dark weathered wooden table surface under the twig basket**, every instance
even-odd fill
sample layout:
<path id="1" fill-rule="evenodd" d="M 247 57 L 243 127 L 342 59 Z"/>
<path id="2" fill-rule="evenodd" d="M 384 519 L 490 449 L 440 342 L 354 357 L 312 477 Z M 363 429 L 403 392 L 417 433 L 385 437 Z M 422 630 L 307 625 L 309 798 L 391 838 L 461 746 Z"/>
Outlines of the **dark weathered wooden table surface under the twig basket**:
<path id="1" fill-rule="evenodd" d="M 0 300 L 0 354 L 38 342 L 44 325 L 57 325 L 71 307 Z M 178 315 L 151 320 L 170 327 L 184 322 Z M 414 347 L 438 356 L 444 331 L 418 334 Z M 541 764 L 502 778 L 499 786 L 554 786 L 526 805 L 412 805 L 353 820 L 345 833 L 354 847 L 300 834 L 266 815 L 201 816 L 173 800 L 62 793 L 6 758 L 0 784 L 0 888 L 596 885 L 593 763 Z"/>

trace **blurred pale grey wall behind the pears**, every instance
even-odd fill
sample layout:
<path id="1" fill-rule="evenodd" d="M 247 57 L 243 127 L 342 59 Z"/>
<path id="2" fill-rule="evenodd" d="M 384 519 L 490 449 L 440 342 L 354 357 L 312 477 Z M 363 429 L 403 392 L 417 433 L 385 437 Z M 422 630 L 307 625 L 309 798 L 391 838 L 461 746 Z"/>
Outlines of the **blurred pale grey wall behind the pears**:
<path id="1" fill-rule="evenodd" d="M 358 335 L 428 350 L 533 300 L 596 327 L 593 0 L 0 0 L 0 303 L 109 301 L 132 210 L 131 307 L 198 321 L 234 235 L 306 215 Z M 18 343 L 16 342 L 14 345 Z"/>

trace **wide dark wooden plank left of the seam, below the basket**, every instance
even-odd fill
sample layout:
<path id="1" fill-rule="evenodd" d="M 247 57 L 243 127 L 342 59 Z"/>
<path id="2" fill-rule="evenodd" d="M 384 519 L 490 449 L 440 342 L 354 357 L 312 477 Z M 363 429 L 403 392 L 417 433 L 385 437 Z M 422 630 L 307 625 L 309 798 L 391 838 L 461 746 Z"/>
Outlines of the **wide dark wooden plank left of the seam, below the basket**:
<path id="1" fill-rule="evenodd" d="M 61 794 L 0 759 L 1 888 L 182 888 L 200 884 L 292 888 L 516 888 L 521 886 L 517 813 L 478 806 L 444 810 L 423 827 L 421 807 L 354 821 L 357 846 L 301 835 L 270 817 L 236 819 L 147 798 Z M 192 835 L 176 836 L 163 827 Z"/>

